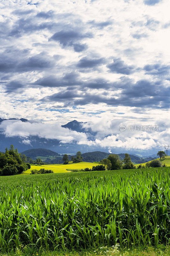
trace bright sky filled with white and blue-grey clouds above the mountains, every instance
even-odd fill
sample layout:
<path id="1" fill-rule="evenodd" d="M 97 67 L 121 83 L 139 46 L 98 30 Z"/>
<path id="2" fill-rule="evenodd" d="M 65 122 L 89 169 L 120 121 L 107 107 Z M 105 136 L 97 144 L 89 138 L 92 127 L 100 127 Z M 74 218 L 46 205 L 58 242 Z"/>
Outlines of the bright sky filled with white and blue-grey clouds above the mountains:
<path id="1" fill-rule="evenodd" d="M 4 0 L 0 10 L 0 117 L 32 122 L 4 121 L 6 136 L 170 144 L 169 0 Z M 75 119 L 93 140 L 60 129 Z"/>

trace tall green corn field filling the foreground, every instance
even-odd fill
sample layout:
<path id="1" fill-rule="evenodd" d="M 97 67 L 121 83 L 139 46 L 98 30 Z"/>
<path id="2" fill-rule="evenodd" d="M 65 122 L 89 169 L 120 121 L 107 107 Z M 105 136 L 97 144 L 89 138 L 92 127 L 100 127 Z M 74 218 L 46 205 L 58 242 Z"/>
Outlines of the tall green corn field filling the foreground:
<path id="1" fill-rule="evenodd" d="M 21 176 L 0 177 L 2 251 L 170 242 L 169 168 Z"/>

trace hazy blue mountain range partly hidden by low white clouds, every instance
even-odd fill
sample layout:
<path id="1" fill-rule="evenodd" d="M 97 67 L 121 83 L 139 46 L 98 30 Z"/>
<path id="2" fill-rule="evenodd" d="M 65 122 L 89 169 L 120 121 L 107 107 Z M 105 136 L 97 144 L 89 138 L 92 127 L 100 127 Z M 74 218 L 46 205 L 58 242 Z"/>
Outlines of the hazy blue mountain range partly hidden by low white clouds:
<path id="1" fill-rule="evenodd" d="M 29 122 L 29 120 L 25 118 L 10 118 L 10 119 L 2 119 L 0 118 L 0 124 L 3 121 L 8 121 L 8 120 L 20 120 L 22 122 Z M 62 125 L 63 128 L 68 128 L 72 131 L 76 132 L 84 132 L 86 133 L 86 136 L 88 140 L 94 140 L 96 137 L 97 132 L 93 132 L 91 128 L 84 128 L 87 122 L 78 122 L 76 120 L 73 120 L 67 124 Z M 88 127 L 88 126 L 87 126 Z M 103 148 L 99 145 L 86 145 L 86 144 L 77 144 L 76 142 L 72 143 L 60 143 L 60 140 L 56 139 L 45 139 L 45 138 L 40 138 L 38 136 L 29 136 L 28 138 L 23 138 L 20 136 L 11 136 L 11 137 L 6 137 L 5 134 L 3 133 L 3 130 L 1 130 L 0 127 L 0 151 L 5 150 L 5 148 L 9 148 L 10 145 L 13 144 L 14 148 L 18 148 L 18 152 L 23 152 L 25 150 L 28 150 L 30 148 L 35 149 L 35 148 L 44 148 L 44 149 L 49 149 L 55 152 L 59 152 L 61 154 L 76 154 L 77 151 L 81 151 L 82 153 L 85 152 L 95 152 L 95 151 L 102 151 Z M 110 147 L 110 150 L 114 154 L 119 154 L 121 151 L 124 153 L 128 153 L 131 155 L 137 155 L 139 157 L 142 156 L 147 156 L 147 155 L 152 155 L 155 153 L 155 149 L 149 149 L 149 150 L 135 150 L 135 149 L 124 149 L 124 148 L 115 148 L 115 147 Z M 109 154 L 109 153 L 107 153 Z M 94 157 L 93 156 L 88 156 L 90 161 L 93 162 Z M 98 160 L 94 160 L 94 162 L 98 162 Z"/>

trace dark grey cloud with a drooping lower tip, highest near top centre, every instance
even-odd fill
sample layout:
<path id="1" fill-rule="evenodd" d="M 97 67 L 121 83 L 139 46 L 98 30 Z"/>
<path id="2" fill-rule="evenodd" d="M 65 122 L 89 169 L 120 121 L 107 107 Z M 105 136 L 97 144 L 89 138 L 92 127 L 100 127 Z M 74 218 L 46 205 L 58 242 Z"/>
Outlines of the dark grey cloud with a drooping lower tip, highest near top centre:
<path id="1" fill-rule="evenodd" d="M 59 42 L 63 47 L 66 46 L 73 46 L 75 52 L 81 52 L 83 51 L 86 46 L 85 44 L 81 44 L 81 40 L 84 38 L 92 38 L 92 33 L 82 33 L 81 28 L 77 28 L 76 30 L 61 30 L 59 32 L 56 32 L 53 36 L 51 36 L 48 41 L 57 41 Z M 79 46 L 78 46 L 79 44 Z"/>

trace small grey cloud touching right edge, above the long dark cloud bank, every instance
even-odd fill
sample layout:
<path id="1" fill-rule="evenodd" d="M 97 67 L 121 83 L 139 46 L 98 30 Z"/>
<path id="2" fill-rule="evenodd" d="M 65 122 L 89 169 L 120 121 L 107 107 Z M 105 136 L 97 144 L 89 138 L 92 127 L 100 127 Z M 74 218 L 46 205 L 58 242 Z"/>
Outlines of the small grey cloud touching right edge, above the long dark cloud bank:
<path id="1" fill-rule="evenodd" d="M 145 74 L 147 75 L 168 75 L 170 71 L 170 65 L 145 65 L 144 66 Z"/>

